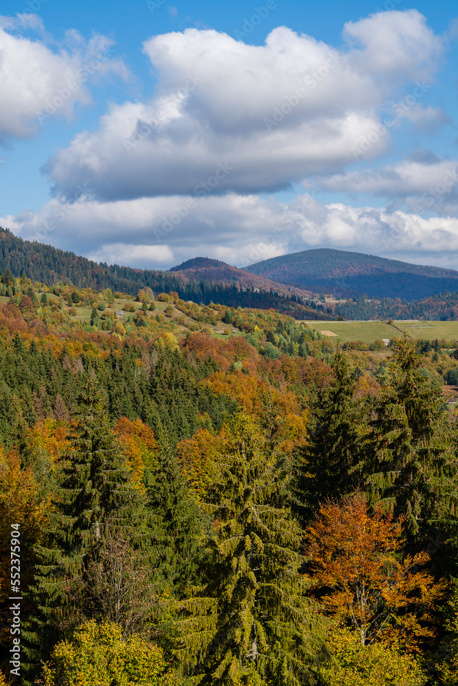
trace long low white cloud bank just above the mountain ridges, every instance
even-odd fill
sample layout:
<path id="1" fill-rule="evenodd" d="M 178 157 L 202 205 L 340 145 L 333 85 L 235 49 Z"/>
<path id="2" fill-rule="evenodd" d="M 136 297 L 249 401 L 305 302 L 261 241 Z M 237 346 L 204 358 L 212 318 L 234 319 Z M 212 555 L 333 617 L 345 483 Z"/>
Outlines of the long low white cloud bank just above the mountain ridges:
<path id="1" fill-rule="evenodd" d="M 100 202 L 54 198 L 40 213 L 0 217 L 25 239 L 91 259 L 169 268 L 203 255 L 238 266 L 330 247 L 458 268 L 458 220 L 341 203 L 308 194 L 292 202 L 260 196 L 168 196 Z"/>

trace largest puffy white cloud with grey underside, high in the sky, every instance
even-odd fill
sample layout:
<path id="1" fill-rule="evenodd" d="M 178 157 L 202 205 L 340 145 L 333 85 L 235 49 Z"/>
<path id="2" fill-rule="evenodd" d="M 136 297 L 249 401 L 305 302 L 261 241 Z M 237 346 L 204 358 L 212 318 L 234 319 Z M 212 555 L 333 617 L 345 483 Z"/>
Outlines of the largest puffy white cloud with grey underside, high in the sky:
<path id="1" fill-rule="evenodd" d="M 387 97 L 430 80 L 442 51 L 416 10 L 374 14 L 347 24 L 344 36 L 350 45 L 340 50 L 286 27 L 260 46 L 214 30 L 150 38 L 156 95 L 111 105 L 98 130 L 51 158 L 55 192 L 71 195 L 89 180 L 100 200 L 198 194 L 220 164 L 232 169 L 218 193 L 335 174 L 380 125 Z M 368 158 L 388 145 L 389 135 L 379 137 Z"/>

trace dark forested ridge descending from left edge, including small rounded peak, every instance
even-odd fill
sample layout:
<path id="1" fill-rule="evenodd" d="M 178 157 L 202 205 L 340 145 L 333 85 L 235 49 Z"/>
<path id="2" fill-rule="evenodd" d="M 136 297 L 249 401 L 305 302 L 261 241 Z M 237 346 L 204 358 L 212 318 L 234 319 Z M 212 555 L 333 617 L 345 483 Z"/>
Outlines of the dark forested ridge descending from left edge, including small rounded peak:
<path id="1" fill-rule="evenodd" d="M 190 265 L 189 262 L 192 264 Z M 208 262 L 216 263 L 209 265 Z M 196 264 L 201 267 L 197 268 Z M 136 295 L 141 288 L 150 287 L 156 293 L 174 291 L 183 300 L 209 305 L 212 301 L 227 307 L 273 307 L 281 314 L 296 319 L 332 319 L 322 305 L 302 303 L 308 296 L 293 286 L 277 284 L 264 277 L 248 274 L 217 260 L 197 258 L 170 272 L 141 270 L 119 265 L 93 262 L 85 257 L 65 252 L 36 241 L 24 241 L 8 229 L 0 228 L 0 270 L 10 270 L 13 276 L 23 272 L 39 283 L 53 285 L 67 281 L 78 288 L 110 288 L 113 292 Z"/>

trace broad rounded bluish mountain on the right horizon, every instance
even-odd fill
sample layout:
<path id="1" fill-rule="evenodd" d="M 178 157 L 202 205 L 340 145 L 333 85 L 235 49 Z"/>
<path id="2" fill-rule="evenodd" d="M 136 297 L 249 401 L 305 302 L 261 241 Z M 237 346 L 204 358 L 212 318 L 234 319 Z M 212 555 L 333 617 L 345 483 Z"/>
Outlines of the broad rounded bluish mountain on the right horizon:
<path id="1" fill-rule="evenodd" d="M 334 296 L 365 293 L 372 298 L 426 298 L 458 290 L 458 272 L 360 252 L 317 248 L 272 257 L 247 272 Z"/>

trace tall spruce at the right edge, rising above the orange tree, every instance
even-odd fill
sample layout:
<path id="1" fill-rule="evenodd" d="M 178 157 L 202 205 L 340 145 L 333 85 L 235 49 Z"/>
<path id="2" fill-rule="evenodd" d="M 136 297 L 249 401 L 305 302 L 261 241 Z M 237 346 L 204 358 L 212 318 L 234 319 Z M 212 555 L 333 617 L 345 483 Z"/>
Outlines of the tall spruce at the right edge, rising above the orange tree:
<path id="1" fill-rule="evenodd" d="M 389 363 L 391 383 L 374 405 L 366 437 L 366 486 L 372 503 L 407 517 L 417 536 L 439 512 L 455 507 L 456 464 L 440 389 L 422 373 L 422 358 L 404 335 Z"/>

